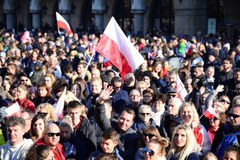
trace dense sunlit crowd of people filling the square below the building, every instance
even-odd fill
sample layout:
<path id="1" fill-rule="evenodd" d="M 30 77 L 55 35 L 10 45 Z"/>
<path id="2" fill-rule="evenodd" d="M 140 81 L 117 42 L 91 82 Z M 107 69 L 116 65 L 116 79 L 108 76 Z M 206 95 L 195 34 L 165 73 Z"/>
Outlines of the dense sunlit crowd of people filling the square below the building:
<path id="1" fill-rule="evenodd" d="M 1 30 L 0 159 L 239 160 L 240 41 L 132 36 L 144 61 L 121 77 L 100 38 Z"/>

